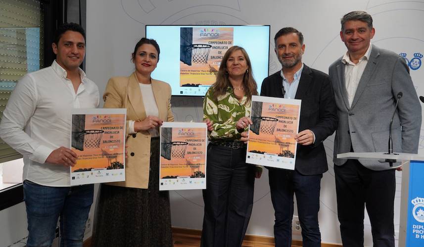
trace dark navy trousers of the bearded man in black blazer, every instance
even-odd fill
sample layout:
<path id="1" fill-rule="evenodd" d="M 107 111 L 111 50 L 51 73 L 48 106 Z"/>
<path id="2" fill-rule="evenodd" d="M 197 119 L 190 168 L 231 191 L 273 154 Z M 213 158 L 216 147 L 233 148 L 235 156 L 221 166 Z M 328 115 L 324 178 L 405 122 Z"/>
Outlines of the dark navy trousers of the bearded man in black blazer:
<path id="1" fill-rule="evenodd" d="M 320 247 L 318 225 L 322 174 L 305 176 L 297 170 L 269 168 L 271 200 L 275 209 L 274 236 L 276 247 L 291 246 L 291 220 L 293 194 L 296 194 L 297 211 L 302 228 L 304 247 Z"/>

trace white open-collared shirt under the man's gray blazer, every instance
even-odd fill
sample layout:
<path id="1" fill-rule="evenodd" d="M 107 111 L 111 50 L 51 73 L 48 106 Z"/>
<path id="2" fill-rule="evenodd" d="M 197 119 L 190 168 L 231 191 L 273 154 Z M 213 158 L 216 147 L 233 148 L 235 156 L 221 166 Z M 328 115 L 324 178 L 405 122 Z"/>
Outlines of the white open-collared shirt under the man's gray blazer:
<path id="1" fill-rule="evenodd" d="M 359 81 L 361 80 L 362 74 L 364 73 L 365 67 L 368 64 L 368 59 L 371 53 L 371 47 L 368 47 L 365 55 L 359 59 L 357 64 L 354 64 L 350 60 L 349 52 L 344 54 L 341 61 L 345 64 L 344 67 L 344 80 L 346 83 L 347 98 L 349 100 L 349 106 L 352 106 L 353 98 L 355 97 L 356 89 L 358 88 Z"/>

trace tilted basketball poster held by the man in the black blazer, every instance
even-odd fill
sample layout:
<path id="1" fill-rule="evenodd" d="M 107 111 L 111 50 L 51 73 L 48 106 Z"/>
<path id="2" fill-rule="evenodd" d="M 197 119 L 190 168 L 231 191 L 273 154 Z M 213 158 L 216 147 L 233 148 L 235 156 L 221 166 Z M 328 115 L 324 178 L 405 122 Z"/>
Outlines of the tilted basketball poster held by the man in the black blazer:
<path id="1" fill-rule="evenodd" d="M 294 170 L 301 100 L 252 96 L 246 163 Z"/>

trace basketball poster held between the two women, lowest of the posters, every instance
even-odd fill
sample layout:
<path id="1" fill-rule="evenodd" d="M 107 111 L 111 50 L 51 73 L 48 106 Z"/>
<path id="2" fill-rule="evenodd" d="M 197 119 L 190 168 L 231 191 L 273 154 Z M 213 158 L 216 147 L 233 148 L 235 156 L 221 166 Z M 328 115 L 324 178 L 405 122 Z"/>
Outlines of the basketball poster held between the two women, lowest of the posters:
<path id="1" fill-rule="evenodd" d="M 206 189 L 206 152 L 205 123 L 163 123 L 159 190 Z"/>

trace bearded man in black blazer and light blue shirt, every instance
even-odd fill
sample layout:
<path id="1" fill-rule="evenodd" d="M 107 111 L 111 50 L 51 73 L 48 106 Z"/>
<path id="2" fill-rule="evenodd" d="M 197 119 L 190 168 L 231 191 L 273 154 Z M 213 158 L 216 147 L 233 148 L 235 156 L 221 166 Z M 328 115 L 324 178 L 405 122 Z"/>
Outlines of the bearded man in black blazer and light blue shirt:
<path id="1" fill-rule="evenodd" d="M 281 29 L 274 38 L 282 70 L 262 82 L 261 95 L 301 99 L 297 154 L 294 170 L 269 168 L 271 199 L 275 209 L 276 247 L 291 246 L 293 193 L 304 247 L 321 246 L 318 225 L 320 187 L 328 170 L 323 141 L 337 128 L 337 109 L 329 76 L 302 63 L 303 35 Z"/>

